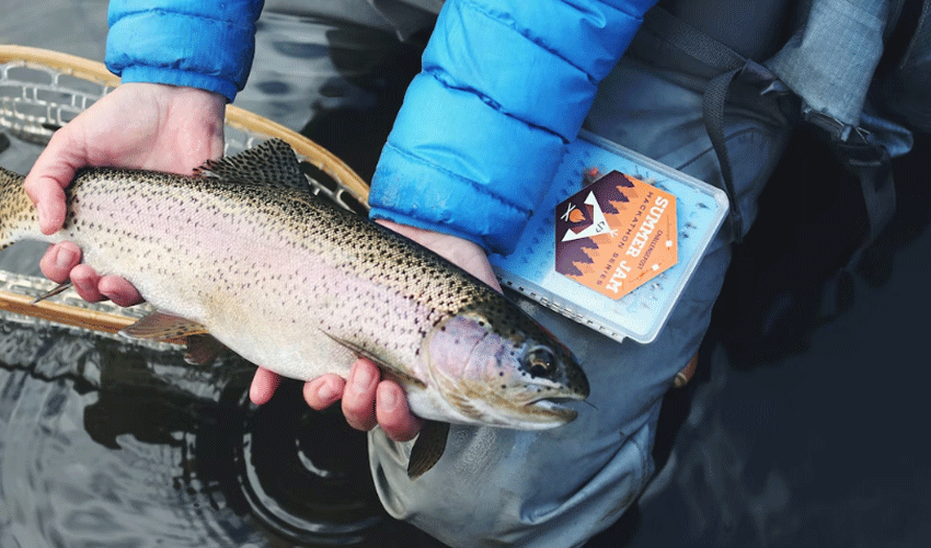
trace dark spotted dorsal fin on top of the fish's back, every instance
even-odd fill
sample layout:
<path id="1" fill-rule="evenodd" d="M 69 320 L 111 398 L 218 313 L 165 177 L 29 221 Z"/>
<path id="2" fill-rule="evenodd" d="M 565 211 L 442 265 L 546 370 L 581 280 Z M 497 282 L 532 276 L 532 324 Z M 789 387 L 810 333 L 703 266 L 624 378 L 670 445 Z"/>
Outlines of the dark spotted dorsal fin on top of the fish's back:
<path id="1" fill-rule="evenodd" d="M 237 183 L 310 191 L 294 149 L 281 139 L 268 139 L 238 155 L 207 160 L 194 173 Z"/>

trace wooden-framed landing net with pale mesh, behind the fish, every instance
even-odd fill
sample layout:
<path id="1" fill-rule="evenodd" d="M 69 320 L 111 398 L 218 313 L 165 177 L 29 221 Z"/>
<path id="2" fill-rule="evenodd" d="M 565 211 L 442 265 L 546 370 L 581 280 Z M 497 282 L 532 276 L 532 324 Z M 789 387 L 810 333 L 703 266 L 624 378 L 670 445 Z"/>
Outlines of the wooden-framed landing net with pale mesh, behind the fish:
<path id="1" fill-rule="evenodd" d="M 0 132 L 44 145 L 56 129 L 117 85 L 119 80 L 100 62 L 47 49 L 0 45 Z M 307 137 L 233 105 L 227 106 L 225 136 L 226 155 L 272 137 L 284 139 L 307 168 L 303 171 L 317 194 L 346 209 L 365 213 L 366 183 Z M 0 318 L 12 313 L 21 322 L 48 321 L 114 334 L 150 310 L 147 305 L 120 308 L 111 302 L 85 302 L 72 290 L 32 304 L 54 286 L 42 277 L 0 270 Z"/>

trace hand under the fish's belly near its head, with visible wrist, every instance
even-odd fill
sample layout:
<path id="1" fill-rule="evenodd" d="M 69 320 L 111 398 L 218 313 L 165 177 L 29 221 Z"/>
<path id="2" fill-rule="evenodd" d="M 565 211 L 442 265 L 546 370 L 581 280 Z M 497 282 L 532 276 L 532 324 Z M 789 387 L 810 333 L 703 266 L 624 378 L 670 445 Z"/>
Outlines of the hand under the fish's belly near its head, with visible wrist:
<path id="1" fill-rule="evenodd" d="M 479 246 L 455 236 L 390 221 L 378 222 L 434 250 L 501 292 L 487 255 Z M 252 401 L 262 404 L 272 399 L 279 380 L 274 373 L 260 368 L 250 389 Z M 421 420 L 411 413 L 401 387 L 391 380 L 380 379 L 378 367 L 365 358 L 353 365 L 348 380 L 338 375 L 323 375 L 309 380 L 303 387 L 303 398 L 317 410 L 342 399 L 343 414 L 350 426 L 368 431 L 378 424 L 388 437 L 396 442 L 412 439 L 421 430 Z"/>

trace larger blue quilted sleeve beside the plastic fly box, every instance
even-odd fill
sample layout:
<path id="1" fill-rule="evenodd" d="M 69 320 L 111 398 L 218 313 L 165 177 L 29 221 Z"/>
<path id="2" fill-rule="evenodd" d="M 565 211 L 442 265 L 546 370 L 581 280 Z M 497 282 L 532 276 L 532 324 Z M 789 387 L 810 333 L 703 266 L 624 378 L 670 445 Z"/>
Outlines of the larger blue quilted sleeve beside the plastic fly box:
<path id="1" fill-rule="evenodd" d="M 508 253 L 655 0 L 448 0 L 372 181 L 372 217 Z"/>

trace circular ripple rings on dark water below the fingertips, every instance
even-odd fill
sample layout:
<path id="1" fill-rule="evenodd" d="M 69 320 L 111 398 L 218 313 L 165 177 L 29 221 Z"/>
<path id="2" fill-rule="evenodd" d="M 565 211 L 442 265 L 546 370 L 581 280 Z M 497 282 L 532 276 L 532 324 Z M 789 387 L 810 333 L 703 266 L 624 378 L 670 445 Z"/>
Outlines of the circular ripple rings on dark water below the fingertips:
<path id="1" fill-rule="evenodd" d="M 250 509 L 295 541 L 371 541 L 382 516 L 366 436 L 347 430 L 337 410 L 311 411 L 298 388 L 289 384 L 245 421 L 235 450 Z"/>

